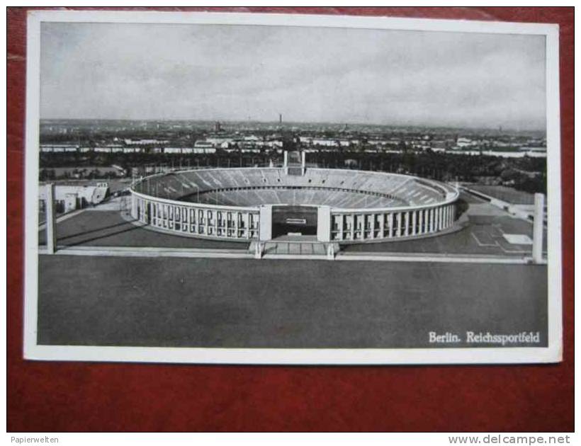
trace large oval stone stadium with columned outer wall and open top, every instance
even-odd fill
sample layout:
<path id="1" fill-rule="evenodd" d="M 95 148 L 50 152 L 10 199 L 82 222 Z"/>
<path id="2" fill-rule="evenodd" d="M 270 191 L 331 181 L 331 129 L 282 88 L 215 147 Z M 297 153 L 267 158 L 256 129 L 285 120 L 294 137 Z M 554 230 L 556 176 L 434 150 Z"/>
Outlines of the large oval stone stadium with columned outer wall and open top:
<path id="1" fill-rule="evenodd" d="M 284 236 L 353 244 L 449 231 L 458 190 L 396 173 L 305 166 L 203 168 L 132 184 L 132 218 L 182 236 L 269 241 Z"/>

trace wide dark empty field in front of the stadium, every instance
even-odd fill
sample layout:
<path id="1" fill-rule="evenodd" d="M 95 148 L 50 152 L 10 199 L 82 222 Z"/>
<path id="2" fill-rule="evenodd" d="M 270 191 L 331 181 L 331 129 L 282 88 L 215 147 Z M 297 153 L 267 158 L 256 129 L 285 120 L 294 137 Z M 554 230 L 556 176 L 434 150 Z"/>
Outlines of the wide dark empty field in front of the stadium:
<path id="1" fill-rule="evenodd" d="M 42 344 L 431 347 L 429 331 L 470 330 L 546 345 L 544 265 L 43 255 L 39 268 Z"/>

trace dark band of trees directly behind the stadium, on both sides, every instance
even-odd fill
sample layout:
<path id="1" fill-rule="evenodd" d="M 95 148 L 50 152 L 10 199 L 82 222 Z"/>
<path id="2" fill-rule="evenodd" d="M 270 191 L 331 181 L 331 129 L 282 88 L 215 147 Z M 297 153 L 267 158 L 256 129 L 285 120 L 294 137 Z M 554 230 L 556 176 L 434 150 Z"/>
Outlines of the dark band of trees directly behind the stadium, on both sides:
<path id="1" fill-rule="evenodd" d="M 167 168 L 280 166 L 283 155 L 276 151 L 261 153 L 227 152 L 215 154 L 143 154 L 143 153 L 41 153 L 40 167 L 111 166 L 125 168 L 156 165 Z M 546 193 L 546 159 L 502 158 L 500 156 L 449 154 L 434 151 L 367 153 L 359 150 L 317 151 L 307 154 L 308 166 L 385 171 L 431 178 L 512 185 L 526 192 Z"/>

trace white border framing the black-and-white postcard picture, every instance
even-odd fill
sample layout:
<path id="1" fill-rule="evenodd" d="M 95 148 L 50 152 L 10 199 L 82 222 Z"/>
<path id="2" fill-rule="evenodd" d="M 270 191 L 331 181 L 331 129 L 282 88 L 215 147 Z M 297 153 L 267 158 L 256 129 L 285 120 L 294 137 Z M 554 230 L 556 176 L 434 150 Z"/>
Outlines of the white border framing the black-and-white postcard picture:
<path id="1" fill-rule="evenodd" d="M 189 23 L 377 28 L 546 36 L 548 346 L 546 348 L 152 348 L 38 345 L 38 144 L 40 23 Z M 30 11 L 26 49 L 25 311 L 24 358 L 113 362 L 224 364 L 458 364 L 533 363 L 562 360 L 560 202 L 560 100 L 558 25 L 439 19 L 271 13 L 167 13 L 157 11 Z"/>

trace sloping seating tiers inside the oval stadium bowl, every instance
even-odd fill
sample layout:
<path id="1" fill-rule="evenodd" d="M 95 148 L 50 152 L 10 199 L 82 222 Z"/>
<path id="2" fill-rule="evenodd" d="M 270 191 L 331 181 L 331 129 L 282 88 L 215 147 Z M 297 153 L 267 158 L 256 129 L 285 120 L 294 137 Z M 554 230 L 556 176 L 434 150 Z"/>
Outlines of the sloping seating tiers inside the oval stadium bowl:
<path id="1" fill-rule="evenodd" d="M 432 205 L 447 185 L 393 173 L 308 168 L 304 176 L 283 168 L 216 168 L 175 171 L 137 182 L 134 190 L 169 200 L 211 205 L 329 205 L 378 208 Z"/>

